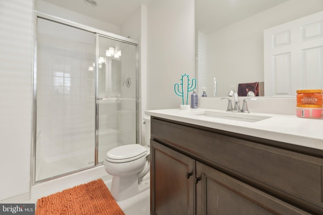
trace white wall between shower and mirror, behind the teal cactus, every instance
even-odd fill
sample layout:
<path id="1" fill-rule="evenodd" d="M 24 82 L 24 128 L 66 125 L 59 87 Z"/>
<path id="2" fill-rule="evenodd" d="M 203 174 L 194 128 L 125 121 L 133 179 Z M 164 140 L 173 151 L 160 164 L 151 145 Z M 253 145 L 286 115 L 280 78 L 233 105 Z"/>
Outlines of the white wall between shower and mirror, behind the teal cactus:
<path id="1" fill-rule="evenodd" d="M 152 1 L 147 7 L 147 109 L 179 108 L 174 84 L 195 78 L 194 0 Z"/>

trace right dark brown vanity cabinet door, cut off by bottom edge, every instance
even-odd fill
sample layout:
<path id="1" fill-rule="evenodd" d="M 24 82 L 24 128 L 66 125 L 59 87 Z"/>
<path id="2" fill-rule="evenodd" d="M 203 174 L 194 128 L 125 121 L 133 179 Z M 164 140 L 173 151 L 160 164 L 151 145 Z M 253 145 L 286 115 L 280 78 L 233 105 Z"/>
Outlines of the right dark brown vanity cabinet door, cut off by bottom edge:
<path id="1" fill-rule="evenodd" d="M 196 162 L 196 214 L 309 214 Z"/>

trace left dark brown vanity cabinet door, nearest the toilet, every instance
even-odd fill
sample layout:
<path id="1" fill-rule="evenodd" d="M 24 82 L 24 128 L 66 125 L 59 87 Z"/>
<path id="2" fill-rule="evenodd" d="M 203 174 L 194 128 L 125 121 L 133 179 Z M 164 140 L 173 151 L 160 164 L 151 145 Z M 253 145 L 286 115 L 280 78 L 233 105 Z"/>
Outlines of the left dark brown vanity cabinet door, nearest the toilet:
<path id="1" fill-rule="evenodd" d="M 194 214 L 195 161 L 150 141 L 151 214 Z"/>

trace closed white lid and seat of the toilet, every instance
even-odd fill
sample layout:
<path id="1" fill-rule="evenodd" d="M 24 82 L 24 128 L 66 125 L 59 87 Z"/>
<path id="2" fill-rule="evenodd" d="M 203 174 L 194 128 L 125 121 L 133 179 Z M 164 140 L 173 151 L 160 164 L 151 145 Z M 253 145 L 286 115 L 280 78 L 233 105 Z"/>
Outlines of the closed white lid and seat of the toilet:
<path id="1" fill-rule="evenodd" d="M 147 154 L 147 149 L 139 144 L 116 147 L 106 153 L 105 160 L 113 163 L 134 161 Z"/>

